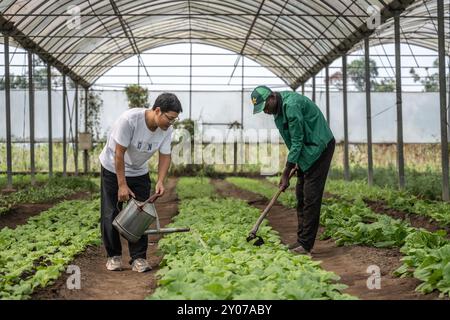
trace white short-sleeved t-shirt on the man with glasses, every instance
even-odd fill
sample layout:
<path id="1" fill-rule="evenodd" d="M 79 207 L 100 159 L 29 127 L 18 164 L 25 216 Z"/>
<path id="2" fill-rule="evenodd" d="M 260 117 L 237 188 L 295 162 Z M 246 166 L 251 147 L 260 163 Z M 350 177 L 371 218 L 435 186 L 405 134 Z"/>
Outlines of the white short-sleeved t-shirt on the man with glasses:
<path id="1" fill-rule="evenodd" d="M 148 173 L 148 160 L 159 150 L 170 154 L 173 128 L 166 131 L 157 128 L 150 131 L 145 123 L 145 108 L 133 108 L 125 111 L 114 123 L 108 141 L 100 153 L 102 166 L 116 173 L 116 144 L 127 148 L 125 152 L 125 176 L 137 177 Z"/>

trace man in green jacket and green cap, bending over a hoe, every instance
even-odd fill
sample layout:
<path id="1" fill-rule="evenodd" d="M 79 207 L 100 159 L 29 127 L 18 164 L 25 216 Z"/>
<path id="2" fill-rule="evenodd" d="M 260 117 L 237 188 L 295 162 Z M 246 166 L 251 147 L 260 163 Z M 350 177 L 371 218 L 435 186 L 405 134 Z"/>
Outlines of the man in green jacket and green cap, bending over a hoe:
<path id="1" fill-rule="evenodd" d="M 280 188 L 289 187 L 289 174 L 297 171 L 297 242 L 293 251 L 310 254 L 319 229 L 323 190 L 333 158 L 335 139 L 322 112 L 307 97 L 292 91 L 273 92 L 259 86 L 252 92 L 253 114 L 274 116 L 275 125 L 289 149 Z"/>

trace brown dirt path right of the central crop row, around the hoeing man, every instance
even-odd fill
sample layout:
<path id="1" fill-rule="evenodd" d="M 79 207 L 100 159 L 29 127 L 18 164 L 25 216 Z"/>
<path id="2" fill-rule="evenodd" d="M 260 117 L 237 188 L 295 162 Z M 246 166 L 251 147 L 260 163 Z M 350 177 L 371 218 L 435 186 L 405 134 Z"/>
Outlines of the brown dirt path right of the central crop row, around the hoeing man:
<path id="1" fill-rule="evenodd" d="M 225 180 L 212 180 L 218 193 L 225 197 L 235 197 L 247 201 L 252 206 L 265 208 L 268 200 L 253 192 L 238 189 Z M 283 243 L 295 242 L 297 215 L 295 209 L 288 209 L 276 203 L 268 215 L 270 225 L 280 234 Z M 396 278 L 392 272 L 401 265 L 401 254 L 397 249 L 378 249 L 364 246 L 338 247 L 333 240 L 320 240 L 319 230 L 313 250 L 313 260 L 321 261 L 321 266 L 341 277 L 340 282 L 348 286 L 345 293 L 360 299 L 437 299 L 438 294 L 423 295 L 414 291 L 420 281 L 414 278 Z M 242 235 L 243 237 L 247 235 Z M 369 290 L 366 273 L 370 265 L 381 270 L 381 289 Z"/>

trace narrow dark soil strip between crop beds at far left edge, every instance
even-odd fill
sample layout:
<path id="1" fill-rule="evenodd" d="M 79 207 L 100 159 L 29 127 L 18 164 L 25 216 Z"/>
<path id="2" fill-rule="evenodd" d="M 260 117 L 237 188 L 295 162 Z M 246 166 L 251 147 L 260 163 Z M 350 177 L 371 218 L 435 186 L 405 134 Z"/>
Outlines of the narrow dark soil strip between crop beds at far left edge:
<path id="1" fill-rule="evenodd" d="M 81 191 L 64 198 L 52 200 L 53 202 L 25 203 L 15 205 L 11 209 L 9 209 L 8 212 L 0 215 L 0 230 L 4 227 L 14 229 L 19 225 L 25 224 L 30 217 L 37 216 L 43 211 L 54 207 L 62 201 L 88 199 L 90 196 L 90 192 Z"/>

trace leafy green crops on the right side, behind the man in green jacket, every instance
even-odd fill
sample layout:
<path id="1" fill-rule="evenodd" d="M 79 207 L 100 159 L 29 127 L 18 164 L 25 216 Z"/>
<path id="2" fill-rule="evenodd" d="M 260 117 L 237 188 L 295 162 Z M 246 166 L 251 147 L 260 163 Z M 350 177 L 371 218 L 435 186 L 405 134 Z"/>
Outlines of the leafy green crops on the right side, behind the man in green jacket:
<path id="1" fill-rule="evenodd" d="M 265 197 L 274 194 L 275 184 L 247 178 L 228 178 L 235 186 Z M 277 182 L 271 179 L 271 182 Z M 295 181 L 293 183 L 295 185 Z M 413 228 L 407 221 L 373 212 L 364 199 L 385 201 L 387 206 L 403 209 L 436 219 L 447 225 L 448 204 L 418 200 L 406 193 L 368 188 L 360 183 L 329 181 L 326 191 L 334 196 L 324 199 L 321 225 L 322 239 L 332 238 L 337 245 L 366 245 L 378 248 L 400 248 L 403 264 L 396 276 L 413 276 L 422 281 L 416 288 L 422 293 L 438 290 L 441 296 L 450 294 L 450 241 L 445 231 L 435 233 Z M 280 197 L 280 202 L 295 208 L 292 188 Z"/>

